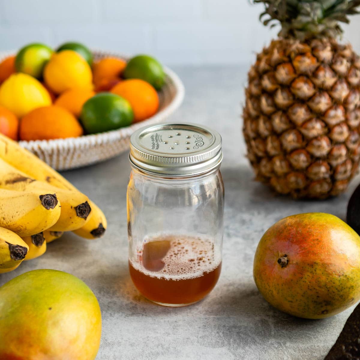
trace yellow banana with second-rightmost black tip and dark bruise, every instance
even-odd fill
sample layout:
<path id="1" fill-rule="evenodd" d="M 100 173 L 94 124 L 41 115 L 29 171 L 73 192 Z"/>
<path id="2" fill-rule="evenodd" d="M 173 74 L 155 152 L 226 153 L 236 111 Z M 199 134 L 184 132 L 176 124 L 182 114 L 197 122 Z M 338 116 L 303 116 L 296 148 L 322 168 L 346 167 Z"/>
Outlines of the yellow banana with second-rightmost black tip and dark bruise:
<path id="1" fill-rule="evenodd" d="M 70 231 L 81 228 L 90 220 L 89 199 L 78 191 L 58 189 L 29 177 L 0 158 L 0 188 L 16 191 L 55 193 L 61 203 L 60 217 L 49 228 L 53 231 Z"/>

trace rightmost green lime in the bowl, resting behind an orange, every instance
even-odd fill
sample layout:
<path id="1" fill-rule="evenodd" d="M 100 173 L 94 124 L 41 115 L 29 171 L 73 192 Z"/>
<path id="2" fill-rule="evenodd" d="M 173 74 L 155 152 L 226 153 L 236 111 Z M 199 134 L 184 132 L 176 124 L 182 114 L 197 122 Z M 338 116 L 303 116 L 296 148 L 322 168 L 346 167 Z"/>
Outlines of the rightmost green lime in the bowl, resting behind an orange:
<path id="1" fill-rule="evenodd" d="M 160 90 L 164 84 L 165 73 L 158 60 L 148 55 L 138 55 L 129 60 L 123 72 L 123 77 L 147 81 L 156 90 Z"/>

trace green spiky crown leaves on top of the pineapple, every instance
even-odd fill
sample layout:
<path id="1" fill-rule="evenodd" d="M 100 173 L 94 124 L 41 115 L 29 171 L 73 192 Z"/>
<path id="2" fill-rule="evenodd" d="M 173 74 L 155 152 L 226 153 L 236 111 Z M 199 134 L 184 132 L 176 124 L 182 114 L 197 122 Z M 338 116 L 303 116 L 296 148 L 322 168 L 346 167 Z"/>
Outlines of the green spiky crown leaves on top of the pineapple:
<path id="1" fill-rule="evenodd" d="M 253 3 L 264 3 L 260 21 L 265 26 L 274 27 L 280 22 L 280 37 L 305 41 L 340 36 L 338 22 L 349 23 L 347 15 L 359 14 L 360 0 L 253 0 Z"/>

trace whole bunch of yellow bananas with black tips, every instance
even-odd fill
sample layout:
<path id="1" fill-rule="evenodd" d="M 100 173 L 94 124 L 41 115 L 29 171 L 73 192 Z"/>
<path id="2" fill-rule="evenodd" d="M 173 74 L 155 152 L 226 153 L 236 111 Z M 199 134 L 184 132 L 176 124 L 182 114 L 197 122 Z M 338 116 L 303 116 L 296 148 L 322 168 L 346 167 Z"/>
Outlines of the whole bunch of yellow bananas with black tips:
<path id="1" fill-rule="evenodd" d="M 0 274 L 46 251 L 64 231 L 95 239 L 104 213 L 49 165 L 0 134 Z"/>

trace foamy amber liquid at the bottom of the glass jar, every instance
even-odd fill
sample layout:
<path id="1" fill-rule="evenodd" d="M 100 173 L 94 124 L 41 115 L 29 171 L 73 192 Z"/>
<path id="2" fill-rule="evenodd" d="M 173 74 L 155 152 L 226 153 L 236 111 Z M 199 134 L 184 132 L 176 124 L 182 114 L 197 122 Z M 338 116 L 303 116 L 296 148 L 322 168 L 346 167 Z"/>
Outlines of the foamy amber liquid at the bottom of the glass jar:
<path id="1" fill-rule="evenodd" d="M 215 286 L 221 253 L 207 239 L 162 236 L 145 240 L 136 263 L 129 260 L 136 288 L 149 300 L 167 306 L 190 305 Z"/>

